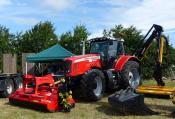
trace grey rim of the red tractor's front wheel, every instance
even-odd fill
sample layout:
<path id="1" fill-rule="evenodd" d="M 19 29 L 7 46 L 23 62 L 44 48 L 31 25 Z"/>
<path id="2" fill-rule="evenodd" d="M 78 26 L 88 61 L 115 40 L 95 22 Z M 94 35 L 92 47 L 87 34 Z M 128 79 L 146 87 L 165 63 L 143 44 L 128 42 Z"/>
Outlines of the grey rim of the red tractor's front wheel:
<path id="1" fill-rule="evenodd" d="M 96 96 L 101 95 L 102 92 L 102 81 L 100 77 L 95 77 L 96 88 L 93 90 Z"/>

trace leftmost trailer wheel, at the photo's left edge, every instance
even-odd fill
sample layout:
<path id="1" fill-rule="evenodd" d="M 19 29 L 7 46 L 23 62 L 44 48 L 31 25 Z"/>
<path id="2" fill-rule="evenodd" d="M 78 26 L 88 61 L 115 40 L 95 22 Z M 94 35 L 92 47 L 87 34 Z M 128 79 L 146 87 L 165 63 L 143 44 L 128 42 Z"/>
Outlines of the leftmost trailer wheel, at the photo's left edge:
<path id="1" fill-rule="evenodd" d="M 14 82 L 12 79 L 7 78 L 5 82 L 5 90 L 1 94 L 2 97 L 8 97 L 14 92 Z"/>

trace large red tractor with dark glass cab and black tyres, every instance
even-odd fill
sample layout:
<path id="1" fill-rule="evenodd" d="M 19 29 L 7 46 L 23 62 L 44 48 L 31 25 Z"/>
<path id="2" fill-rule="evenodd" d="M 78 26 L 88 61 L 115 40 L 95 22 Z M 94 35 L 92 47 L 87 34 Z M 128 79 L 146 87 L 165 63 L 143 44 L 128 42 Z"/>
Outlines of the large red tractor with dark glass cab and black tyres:
<path id="1" fill-rule="evenodd" d="M 88 100 L 101 99 L 106 89 L 125 89 L 129 85 L 136 89 L 141 82 L 139 60 L 125 54 L 120 39 L 91 39 L 90 54 L 69 57 L 65 61 L 71 87 L 79 87 Z"/>

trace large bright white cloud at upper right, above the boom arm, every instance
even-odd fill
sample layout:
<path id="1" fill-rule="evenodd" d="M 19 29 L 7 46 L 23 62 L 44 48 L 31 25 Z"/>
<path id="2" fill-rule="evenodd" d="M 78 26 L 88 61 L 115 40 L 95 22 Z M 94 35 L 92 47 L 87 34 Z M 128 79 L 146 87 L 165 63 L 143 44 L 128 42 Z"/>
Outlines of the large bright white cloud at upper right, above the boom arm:
<path id="1" fill-rule="evenodd" d="M 110 18 L 115 16 L 119 23 L 126 26 L 148 29 L 152 24 L 160 24 L 165 29 L 175 28 L 174 0 L 143 0 L 137 6 L 123 10 L 120 15 L 117 15 L 118 11 L 120 8 L 112 8 Z M 117 20 L 111 20 L 111 23 L 117 23 Z"/>

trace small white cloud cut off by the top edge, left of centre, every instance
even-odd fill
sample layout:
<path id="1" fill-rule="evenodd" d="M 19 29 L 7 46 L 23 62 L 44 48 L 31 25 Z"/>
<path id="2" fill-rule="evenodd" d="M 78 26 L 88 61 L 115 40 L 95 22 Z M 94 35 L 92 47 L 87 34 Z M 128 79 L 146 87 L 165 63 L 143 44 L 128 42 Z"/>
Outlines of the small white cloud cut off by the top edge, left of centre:
<path id="1" fill-rule="evenodd" d="M 40 2 L 43 6 L 57 11 L 65 10 L 72 6 L 72 0 L 41 0 Z"/>

